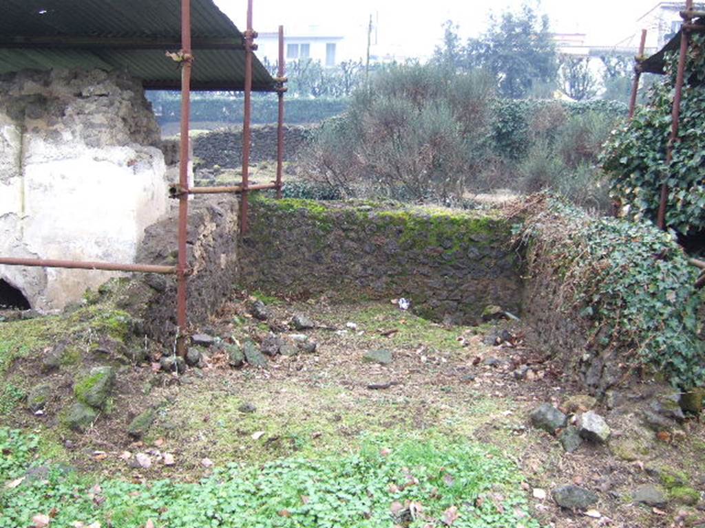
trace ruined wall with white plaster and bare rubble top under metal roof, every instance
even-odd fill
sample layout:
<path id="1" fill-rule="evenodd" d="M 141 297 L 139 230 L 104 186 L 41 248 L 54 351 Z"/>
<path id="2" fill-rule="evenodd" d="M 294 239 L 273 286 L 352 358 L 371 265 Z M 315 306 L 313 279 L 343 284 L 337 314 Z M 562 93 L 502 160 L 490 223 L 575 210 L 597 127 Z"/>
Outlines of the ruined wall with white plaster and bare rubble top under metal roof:
<path id="1" fill-rule="evenodd" d="M 0 255 L 135 259 L 168 208 L 166 167 L 140 82 L 102 70 L 0 76 Z M 107 272 L 0 266 L 32 308 L 62 308 Z"/>

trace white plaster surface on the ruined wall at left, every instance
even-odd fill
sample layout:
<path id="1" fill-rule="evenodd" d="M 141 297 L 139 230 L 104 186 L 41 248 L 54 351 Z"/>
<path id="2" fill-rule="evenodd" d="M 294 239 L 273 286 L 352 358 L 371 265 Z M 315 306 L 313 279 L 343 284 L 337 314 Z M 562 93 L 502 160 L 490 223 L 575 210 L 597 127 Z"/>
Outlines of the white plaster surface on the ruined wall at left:
<path id="1" fill-rule="evenodd" d="M 57 124 L 56 113 L 8 113 L 0 111 L 0 256 L 133 263 L 145 227 L 168 210 L 164 154 L 121 141 L 87 146 L 81 127 L 111 137 L 103 128 L 111 116 L 99 111 L 81 127 Z M 124 134 L 117 118 L 111 126 Z M 42 311 L 78 301 L 116 275 L 0 265 L 0 278 Z"/>

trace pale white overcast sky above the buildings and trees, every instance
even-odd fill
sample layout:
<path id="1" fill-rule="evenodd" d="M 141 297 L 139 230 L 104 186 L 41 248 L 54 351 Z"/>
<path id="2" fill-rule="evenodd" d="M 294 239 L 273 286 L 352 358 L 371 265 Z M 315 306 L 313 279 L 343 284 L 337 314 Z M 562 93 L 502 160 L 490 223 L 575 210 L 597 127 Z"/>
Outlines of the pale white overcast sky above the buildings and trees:
<path id="1" fill-rule="evenodd" d="M 584 32 L 589 44 L 614 45 L 637 31 L 636 19 L 656 0 L 531 0 L 547 13 L 556 32 Z M 244 29 L 246 0 L 216 0 L 235 24 Z M 463 37 L 477 35 L 491 10 L 516 8 L 521 0 L 255 0 L 255 30 L 306 31 L 317 26 L 325 32 L 364 41 L 369 15 L 379 18 L 381 44 L 405 50 L 407 56 L 428 56 L 443 34 L 441 25 L 453 20 Z M 363 45 L 363 44 L 361 44 Z"/>

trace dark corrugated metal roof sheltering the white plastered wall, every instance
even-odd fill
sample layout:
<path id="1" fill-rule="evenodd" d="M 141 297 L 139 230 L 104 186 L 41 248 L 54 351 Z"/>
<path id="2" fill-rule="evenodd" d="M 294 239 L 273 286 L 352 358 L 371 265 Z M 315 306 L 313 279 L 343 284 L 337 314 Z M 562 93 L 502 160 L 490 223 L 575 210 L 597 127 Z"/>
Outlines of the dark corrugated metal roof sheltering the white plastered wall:
<path id="1" fill-rule="evenodd" d="M 128 70 L 145 88 L 179 89 L 166 51 L 180 48 L 180 0 L 3 0 L 0 73 L 25 68 Z M 191 0 L 192 89 L 242 90 L 243 34 L 212 0 Z M 274 79 L 253 61 L 252 89 Z"/>

